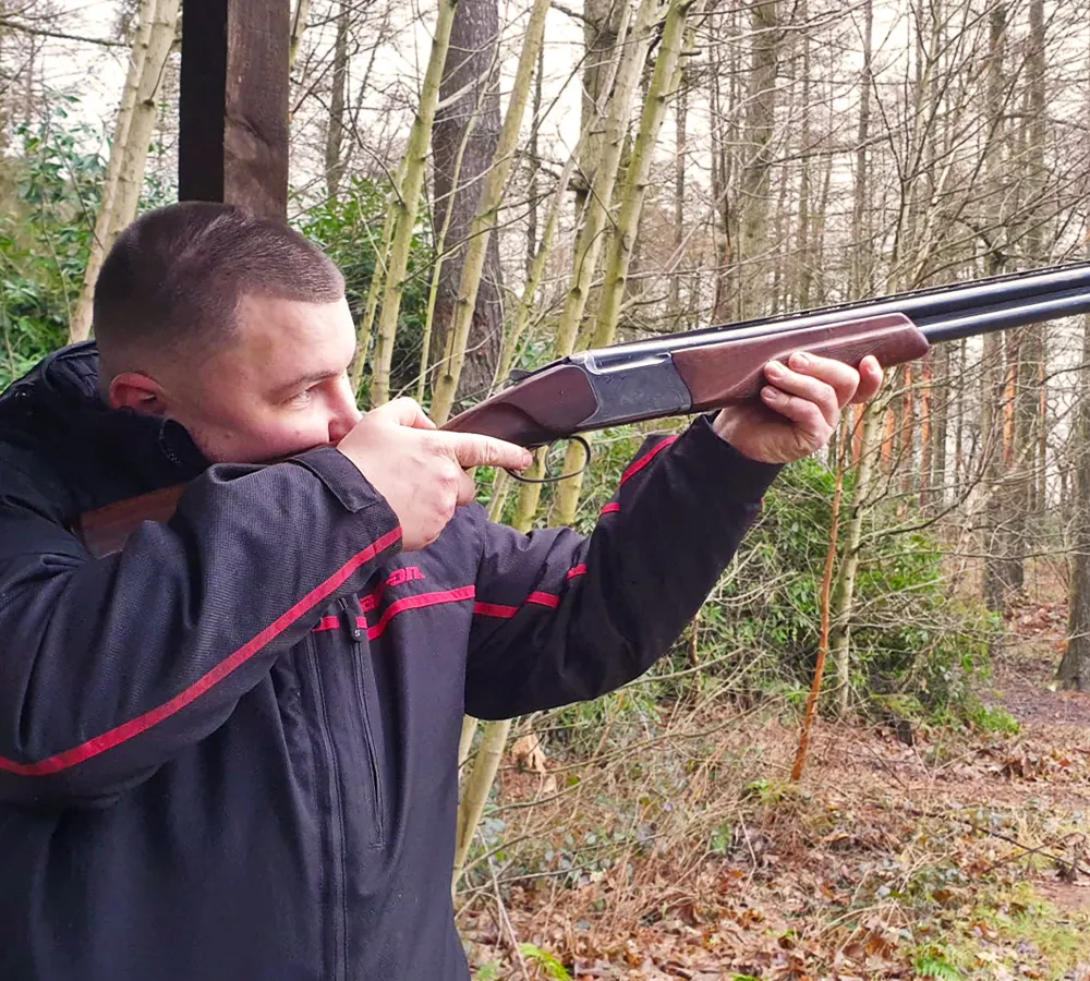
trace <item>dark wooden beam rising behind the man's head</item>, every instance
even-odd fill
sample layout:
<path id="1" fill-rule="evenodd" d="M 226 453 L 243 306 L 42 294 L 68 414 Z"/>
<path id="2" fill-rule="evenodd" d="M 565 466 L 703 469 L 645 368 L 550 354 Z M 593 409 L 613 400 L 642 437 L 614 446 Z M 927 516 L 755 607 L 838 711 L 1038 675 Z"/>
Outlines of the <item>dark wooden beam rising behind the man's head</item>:
<path id="1" fill-rule="evenodd" d="M 183 0 L 178 197 L 288 211 L 288 0 Z"/>

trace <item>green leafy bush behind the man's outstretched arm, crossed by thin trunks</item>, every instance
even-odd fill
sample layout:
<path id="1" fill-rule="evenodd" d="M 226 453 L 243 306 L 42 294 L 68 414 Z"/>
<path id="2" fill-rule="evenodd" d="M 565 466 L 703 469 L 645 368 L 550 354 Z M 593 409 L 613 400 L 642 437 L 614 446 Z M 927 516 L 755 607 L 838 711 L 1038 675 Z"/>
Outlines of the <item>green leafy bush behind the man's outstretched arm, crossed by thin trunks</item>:
<path id="1" fill-rule="evenodd" d="M 595 440 L 580 531 L 593 528 L 641 440 L 632 428 Z M 853 482 L 849 471 L 841 522 Z M 700 663 L 720 680 L 729 679 L 739 694 L 798 697 L 801 704 L 818 653 L 834 493 L 835 475 L 818 460 L 785 468 L 701 610 Z M 850 634 L 857 701 L 905 697 L 924 714 L 966 716 L 973 705 L 971 682 L 986 673 L 989 647 L 1002 625 L 982 606 L 948 595 L 937 540 L 922 532 L 889 534 L 892 518 L 879 507 L 863 529 Z M 686 640 L 659 674 L 688 666 Z M 679 689 L 664 685 L 657 692 L 670 697 Z"/>

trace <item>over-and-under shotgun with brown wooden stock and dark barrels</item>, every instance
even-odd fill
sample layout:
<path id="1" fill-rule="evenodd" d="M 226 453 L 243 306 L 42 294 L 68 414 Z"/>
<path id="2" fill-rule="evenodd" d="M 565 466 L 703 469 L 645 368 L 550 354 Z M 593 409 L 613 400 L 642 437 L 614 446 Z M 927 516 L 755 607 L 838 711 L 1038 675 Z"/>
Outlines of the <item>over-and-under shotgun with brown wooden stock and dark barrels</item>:
<path id="1" fill-rule="evenodd" d="M 722 409 L 754 399 L 764 365 L 804 351 L 858 366 L 922 358 L 931 346 L 1090 313 L 1090 263 L 896 293 L 779 317 L 706 327 L 581 351 L 533 372 L 443 428 L 543 446 L 623 423 Z M 76 518 L 95 556 L 119 550 L 142 521 L 166 521 L 182 487 Z"/>

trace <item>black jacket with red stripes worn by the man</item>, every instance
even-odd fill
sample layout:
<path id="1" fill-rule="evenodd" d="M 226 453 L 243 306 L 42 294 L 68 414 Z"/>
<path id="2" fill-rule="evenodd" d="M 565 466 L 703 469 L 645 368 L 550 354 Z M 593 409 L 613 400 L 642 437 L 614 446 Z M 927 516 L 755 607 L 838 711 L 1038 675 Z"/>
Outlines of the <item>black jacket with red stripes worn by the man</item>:
<path id="1" fill-rule="evenodd" d="M 594 533 L 460 508 L 400 552 L 337 450 L 207 467 L 108 411 L 92 344 L 0 397 L 0 978 L 468 977 L 463 713 L 591 699 L 662 655 L 777 468 L 698 420 Z M 191 480 L 93 559 L 73 513 Z"/>

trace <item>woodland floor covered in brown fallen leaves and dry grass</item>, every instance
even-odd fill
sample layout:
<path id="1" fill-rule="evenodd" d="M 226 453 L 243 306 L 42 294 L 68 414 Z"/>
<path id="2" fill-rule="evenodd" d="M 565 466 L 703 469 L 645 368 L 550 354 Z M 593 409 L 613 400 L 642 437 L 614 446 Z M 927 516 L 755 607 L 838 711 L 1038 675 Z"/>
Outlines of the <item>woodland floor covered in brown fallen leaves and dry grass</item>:
<path id="1" fill-rule="evenodd" d="M 652 750 L 596 783 L 590 764 L 510 767 L 504 834 L 548 850 L 521 880 L 501 850 L 494 887 L 461 897 L 476 978 L 1090 981 L 1090 695 L 1053 690 L 1064 620 L 1019 610 L 981 691 L 1016 734 L 918 730 L 906 746 L 825 723 L 795 786 L 794 725 L 758 712 L 680 767 L 675 752 L 656 770 Z M 633 773 L 643 789 L 621 800 Z M 518 807 L 543 789 L 554 803 Z M 625 844 L 557 872 L 565 843 L 578 865 L 597 839 Z"/>

